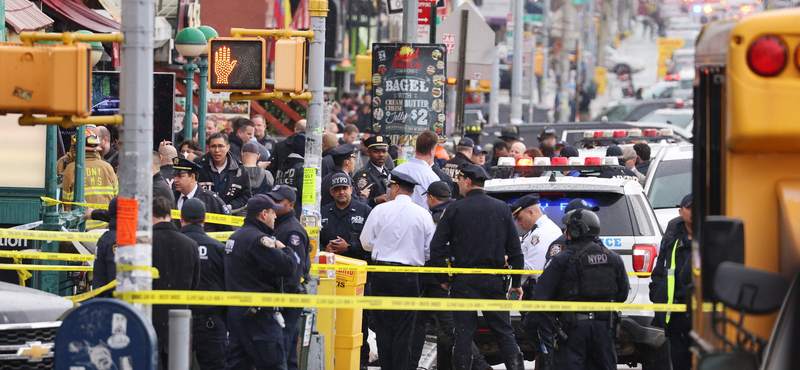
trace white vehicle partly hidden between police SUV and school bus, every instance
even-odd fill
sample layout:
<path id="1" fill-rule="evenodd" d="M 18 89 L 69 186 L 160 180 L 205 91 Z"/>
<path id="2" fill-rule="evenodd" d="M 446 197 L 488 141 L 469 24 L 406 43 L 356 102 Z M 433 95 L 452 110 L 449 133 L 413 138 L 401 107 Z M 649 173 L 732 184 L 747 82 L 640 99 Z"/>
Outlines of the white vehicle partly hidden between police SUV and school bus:
<path id="1" fill-rule="evenodd" d="M 691 144 L 665 147 L 651 159 L 644 192 L 662 231 L 678 217 L 681 199 L 692 192 L 693 148 Z"/>

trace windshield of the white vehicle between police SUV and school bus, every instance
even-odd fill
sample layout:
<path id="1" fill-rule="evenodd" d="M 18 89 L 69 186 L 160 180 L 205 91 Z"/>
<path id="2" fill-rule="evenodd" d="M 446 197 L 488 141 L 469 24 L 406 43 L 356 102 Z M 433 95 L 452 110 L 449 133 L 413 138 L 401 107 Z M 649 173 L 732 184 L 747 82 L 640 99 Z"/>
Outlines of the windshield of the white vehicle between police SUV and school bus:
<path id="1" fill-rule="evenodd" d="M 653 174 L 653 186 L 647 198 L 653 209 L 676 208 L 692 191 L 692 160 L 662 161 Z"/>

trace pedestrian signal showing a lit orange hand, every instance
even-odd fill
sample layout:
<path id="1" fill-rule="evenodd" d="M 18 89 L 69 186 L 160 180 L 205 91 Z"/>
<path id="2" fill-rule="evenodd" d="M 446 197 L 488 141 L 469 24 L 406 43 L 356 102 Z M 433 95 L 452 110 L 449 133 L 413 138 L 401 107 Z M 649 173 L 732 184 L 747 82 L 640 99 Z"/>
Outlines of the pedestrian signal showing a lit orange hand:
<path id="1" fill-rule="evenodd" d="M 213 37 L 208 40 L 208 87 L 213 92 L 262 92 L 266 45 L 260 37 Z"/>

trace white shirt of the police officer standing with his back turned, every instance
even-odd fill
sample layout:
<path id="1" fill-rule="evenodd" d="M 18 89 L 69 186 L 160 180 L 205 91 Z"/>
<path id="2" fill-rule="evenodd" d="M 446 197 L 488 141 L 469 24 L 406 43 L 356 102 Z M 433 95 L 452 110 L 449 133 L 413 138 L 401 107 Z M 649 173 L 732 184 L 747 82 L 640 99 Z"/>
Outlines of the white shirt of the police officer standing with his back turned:
<path id="1" fill-rule="evenodd" d="M 361 246 L 375 261 L 422 266 L 431 258 L 435 231 L 430 212 L 400 194 L 372 209 L 361 231 Z"/>

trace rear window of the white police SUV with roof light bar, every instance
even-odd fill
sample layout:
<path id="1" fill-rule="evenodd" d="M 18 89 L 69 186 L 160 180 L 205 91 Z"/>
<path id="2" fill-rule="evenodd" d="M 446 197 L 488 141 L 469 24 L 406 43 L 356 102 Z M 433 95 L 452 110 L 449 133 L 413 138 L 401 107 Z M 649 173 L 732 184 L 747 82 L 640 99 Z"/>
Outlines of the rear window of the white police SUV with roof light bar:
<path id="1" fill-rule="evenodd" d="M 503 192 L 490 193 L 509 205 L 514 204 L 520 197 L 532 192 Z M 633 221 L 629 210 L 628 199 L 622 194 L 597 193 L 597 192 L 541 192 L 540 204 L 547 218 L 551 219 L 562 229 L 565 228 L 561 219 L 564 217 L 564 208 L 575 198 L 583 198 L 587 203 L 600 207 L 597 216 L 600 217 L 601 235 L 633 236 Z M 518 227 L 520 236 L 525 233 Z M 636 235 L 639 235 L 637 233 Z"/>

